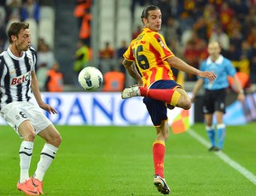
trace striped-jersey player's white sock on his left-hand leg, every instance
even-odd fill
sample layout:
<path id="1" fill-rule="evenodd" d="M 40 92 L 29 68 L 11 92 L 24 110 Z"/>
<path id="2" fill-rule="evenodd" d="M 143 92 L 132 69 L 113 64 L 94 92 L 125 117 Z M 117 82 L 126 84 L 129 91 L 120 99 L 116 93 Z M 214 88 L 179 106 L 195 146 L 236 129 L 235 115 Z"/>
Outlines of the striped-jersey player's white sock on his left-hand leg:
<path id="1" fill-rule="evenodd" d="M 32 141 L 22 141 L 20 144 L 20 183 L 29 179 L 33 146 L 34 142 Z"/>

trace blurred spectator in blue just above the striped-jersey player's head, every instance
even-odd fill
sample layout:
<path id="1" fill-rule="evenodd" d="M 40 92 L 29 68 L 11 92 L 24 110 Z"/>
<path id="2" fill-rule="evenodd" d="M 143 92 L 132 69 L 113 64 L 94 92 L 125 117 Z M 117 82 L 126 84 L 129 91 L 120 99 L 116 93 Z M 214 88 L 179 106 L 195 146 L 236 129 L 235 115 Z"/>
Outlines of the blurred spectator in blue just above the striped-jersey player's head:
<path id="1" fill-rule="evenodd" d="M 20 9 L 21 20 L 34 19 L 39 21 L 39 4 L 35 0 L 26 0 Z"/>

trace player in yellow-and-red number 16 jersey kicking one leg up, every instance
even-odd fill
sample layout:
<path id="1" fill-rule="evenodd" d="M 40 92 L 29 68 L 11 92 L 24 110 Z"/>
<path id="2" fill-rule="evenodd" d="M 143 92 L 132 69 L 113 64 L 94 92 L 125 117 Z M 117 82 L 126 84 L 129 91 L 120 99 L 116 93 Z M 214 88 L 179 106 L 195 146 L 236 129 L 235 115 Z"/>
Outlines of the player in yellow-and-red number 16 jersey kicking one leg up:
<path id="1" fill-rule="evenodd" d="M 164 178 L 166 140 L 169 135 L 166 107 L 182 107 L 186 110 L 191 107 L 189 95 L 173 80 L 171 66 L 200 78 L 208 78 L 210 81 L 213 81 L 216 75 L 189 66 L 172 53 L 166 45 L 165 38 L 158 33 L 161 28 L 161 17 L 160 9 L 154 5 L 143 9 L 143 32 L 131 41 L 123 61 L 126 70 L 137 81 L 138 86 L 124 89 L 122 98 L 144 96 L 143 102 L 157 134 L 153 144 L 154 186 L 160 193 L 169 194 L 170 188 Z"/>

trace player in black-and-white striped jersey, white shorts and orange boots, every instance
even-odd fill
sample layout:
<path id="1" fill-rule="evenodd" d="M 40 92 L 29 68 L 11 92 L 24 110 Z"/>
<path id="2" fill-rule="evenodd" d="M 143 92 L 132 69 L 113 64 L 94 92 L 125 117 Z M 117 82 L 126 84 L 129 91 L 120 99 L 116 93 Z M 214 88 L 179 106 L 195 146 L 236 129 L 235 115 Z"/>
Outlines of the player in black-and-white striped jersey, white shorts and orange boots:
<path id="1" fill-rule="evenodd" d="M 28 195 L 44 194 L 43 178 L 61 144 L 61 135 L 38 107 L 32 104 L 31 91 L 38 106 L 55 114 L 44 103 L 35 73 L 37 54 L 31 47 L 29 24 L 14 22 L 8 30 L 9 48 L 0 55 L 0 114 L 23 139 L 20 145 L 20 179 L 17 188 Z M 35 136 L 44 144 L 38 167 L 29 176 Z"/>

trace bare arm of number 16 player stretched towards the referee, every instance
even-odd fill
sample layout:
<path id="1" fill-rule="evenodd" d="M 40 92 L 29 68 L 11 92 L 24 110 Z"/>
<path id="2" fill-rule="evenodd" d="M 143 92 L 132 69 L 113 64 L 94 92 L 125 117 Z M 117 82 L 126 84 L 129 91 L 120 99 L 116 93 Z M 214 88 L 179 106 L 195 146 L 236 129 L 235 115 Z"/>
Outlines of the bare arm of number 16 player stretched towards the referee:
<path id="1" fill-rule="evenodd" d="M 167 59 L 167 62 L 169 63 L 170 66 L 173 66 L 180 71 L 192 73 L 201 78 L 208 78 L 211 81 L 213 81 L 217 78 L 214 72 L 201 72 L 200 70 L 196 69 L 195 67 L 189 66 L 188 63 L 182 61 L 181 59 L 177 58 L 176 56 L 171 56 L 170 58 Z"/>

